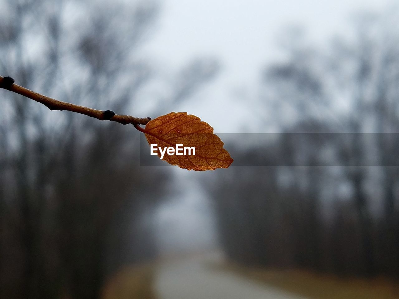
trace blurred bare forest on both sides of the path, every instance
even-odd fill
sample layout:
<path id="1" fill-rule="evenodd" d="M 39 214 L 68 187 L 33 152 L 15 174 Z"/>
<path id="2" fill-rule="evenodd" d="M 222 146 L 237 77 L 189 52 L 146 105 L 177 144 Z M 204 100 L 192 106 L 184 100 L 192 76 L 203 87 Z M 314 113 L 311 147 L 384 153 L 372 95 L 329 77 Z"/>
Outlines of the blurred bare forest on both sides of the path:
<path id="1" fill-rule="evenodd" d="M 165 79 L 136 55 L 160 14 L 158 2 L 0 5 L 1 75 L 59 100 L 156 117 L 190 103 L 220 69 L 217 58 L 202 57 Z M 259 92 L 245 100 L 264 120 L 256 133 L 272 124 L 279 133 L 362 134 L 329 140 L 337 166 L 318 166 L 320 136 L 300 143 L 281 134 L 273 144 L 243 147 L 236 140 L 233 158 L 308 166 L 233 164 L 190 173 L 211 201 L 229 259 L 345 276 L 399 275 L 399 168 L 386 161 L 397 155 L 398 138 L 374 134 L 369 146 L 362 139 L 399 132 L 399 27 L 392 20 L 393 14 L 361 14 L 352 39 L 337 37 L 325 48 L 297 28 L 280 34 L 284 59 L 260 65 Z M 154 84 L 165 86 L 162 97 L 143 99 Z M 152 215 L 184 186 L 173 167 L 139 166 L 134 128 L 50 112 L 5 90 L 0 97 L 1 298 L 99 298 L 113 273 L 161 254 Z M 273 151 L 279 143 L 284 151 Z M 345 166 L 370 156 L 386 166 Z"/>

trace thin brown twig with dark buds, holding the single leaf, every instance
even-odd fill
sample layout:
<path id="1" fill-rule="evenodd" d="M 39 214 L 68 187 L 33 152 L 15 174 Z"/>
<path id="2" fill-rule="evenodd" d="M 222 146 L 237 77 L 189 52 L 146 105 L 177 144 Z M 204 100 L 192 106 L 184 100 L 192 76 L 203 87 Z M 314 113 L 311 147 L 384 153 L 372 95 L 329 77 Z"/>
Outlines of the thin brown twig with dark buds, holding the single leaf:
<path id="1" fill-rule="evenodd" d="M 62 102 L 53 98 L 49 98 L 48 96 L 44 96 L 38 92 L 26 89 L 25 87 L 15 84 L 14 82 L 14 79 L 11 77 L 0 76 L 0 88 L 4 88 L 21 94 L 22 96 L 26 96 L 27 98 L 47 106 L 47 108 L 50 110 L 67 110 L 71 112 L 77 112 L 97 118 L 98 120 L 112 120 L 114 122 L 119 122 L 120 124 L 132 124 L 135 128 L 137 128 L 140 124 L 146 125 L 151 120 L 150 117 L 138 118 L 131 115 L 115 114 L 115 112 L 111 110 L 97 110 L 85 106 Z"/>

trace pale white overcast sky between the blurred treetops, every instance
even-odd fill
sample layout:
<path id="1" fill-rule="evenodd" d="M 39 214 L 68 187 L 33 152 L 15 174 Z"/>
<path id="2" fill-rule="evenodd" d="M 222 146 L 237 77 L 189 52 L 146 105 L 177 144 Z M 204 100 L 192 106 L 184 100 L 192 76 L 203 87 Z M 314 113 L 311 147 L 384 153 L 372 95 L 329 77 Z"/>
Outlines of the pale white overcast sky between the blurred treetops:
<path id="1" fill-rule="evenodd" d="M 322 44 L 336 33 L 348 32 L 353 12 L 382 11 L 391 3 L 390 0 L 164 0 L 160 20 L 144 53 L 162 62 L 165 70 L 179 69 L 196 57 L 217 57 L 222 64 L 217 79 L 199 92 L 194 103 L 173 110 L 200 116 L 215 132 L 243 132 L 245 129 L 238 122 L 231 122 L 231 118 L 250 115 L 244 99 L 255 96 L 256 83 L 265 64 L 279 58 L 276 37 L 284 26 L 301 25 L 308 39 Z M 207 102 L 204 104 L 203 100 Z M 247 125 L 246 130 L 257 132 L 259 128 Z"/>

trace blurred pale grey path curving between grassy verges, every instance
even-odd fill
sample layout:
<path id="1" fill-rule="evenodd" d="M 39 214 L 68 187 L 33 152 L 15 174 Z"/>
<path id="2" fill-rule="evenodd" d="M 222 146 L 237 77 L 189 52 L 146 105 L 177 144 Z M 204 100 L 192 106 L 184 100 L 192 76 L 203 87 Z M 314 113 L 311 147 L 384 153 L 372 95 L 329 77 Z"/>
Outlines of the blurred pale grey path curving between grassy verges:
<path id="1" fill-rule="evenodd" d="M 155 281 L 158 299 L 304 299 L 207 263 L 209 258 L 196 257 L 162 264 Z"/>

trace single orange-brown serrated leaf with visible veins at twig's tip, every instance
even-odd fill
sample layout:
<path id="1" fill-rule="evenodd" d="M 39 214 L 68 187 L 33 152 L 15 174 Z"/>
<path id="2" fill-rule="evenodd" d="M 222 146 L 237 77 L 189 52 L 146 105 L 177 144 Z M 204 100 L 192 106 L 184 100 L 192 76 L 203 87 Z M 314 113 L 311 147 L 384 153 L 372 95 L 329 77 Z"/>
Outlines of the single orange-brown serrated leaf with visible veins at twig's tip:
<path id="1" fill-rule="evenodd" d="M 146 124 L 146 128 L 136 126 L 146 134 L 148 143 L 157 144 L 164 150 L 165 147 L 176 148 L 176 144 L 183 147 L 194 147 L 195 155 L 188 151 L 183 155 L 168 155 L 164 152 L 163 160 L 172 165 L 188 170 L 214 170 L 227 168 L 233 162 L 228 151 L 223 148 L 223 142 L 213 134 L 213 128 L 195 115 L 187 112 L 171 112 L 159 116 Z M 161 157 L 160 150 L 157 150 Z"/>

